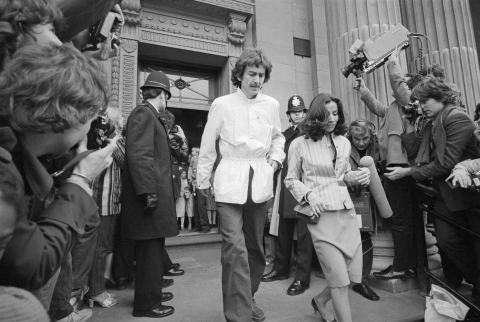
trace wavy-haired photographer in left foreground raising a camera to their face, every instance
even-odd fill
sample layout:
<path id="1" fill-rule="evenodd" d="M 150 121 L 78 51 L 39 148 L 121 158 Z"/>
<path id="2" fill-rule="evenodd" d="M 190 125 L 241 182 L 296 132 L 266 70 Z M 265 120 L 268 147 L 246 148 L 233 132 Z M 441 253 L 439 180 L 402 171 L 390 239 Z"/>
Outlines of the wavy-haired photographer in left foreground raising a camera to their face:
<path id="1" fill-rule="evenodd" d="M 96 211 L 89 183 L 111 162 L 114 142 L 81 159 L 56 193 L 39 158 L 65 153 L 85 137 L 108 103 L 105 84 L 98 63 L 52 43 L 20 48 L 0 75 L 0 144 L 8 152 L 0 166 L 32 200 L 0 261 L 2 285 L 35 290 L 48 282 L 83 233 L 85 217 Z M 77 153 L 85 145 L 82 140 Z"/>

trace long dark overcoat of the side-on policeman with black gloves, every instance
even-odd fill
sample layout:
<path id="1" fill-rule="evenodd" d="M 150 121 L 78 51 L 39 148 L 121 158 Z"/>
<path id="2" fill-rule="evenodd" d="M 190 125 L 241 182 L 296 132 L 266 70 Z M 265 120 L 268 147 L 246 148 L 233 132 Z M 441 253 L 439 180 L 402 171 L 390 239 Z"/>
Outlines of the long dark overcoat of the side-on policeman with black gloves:
<path id="1" fill-rule="evenodd" d="M 126 124 L 120 224 L 130 239 L 178 234 L 168 133 L 158 116 L 143 101 L 131 111 Z M 158 207 L 148 213 L 143 212 L 144 193 L 156 193 L 158 198 Z"/>

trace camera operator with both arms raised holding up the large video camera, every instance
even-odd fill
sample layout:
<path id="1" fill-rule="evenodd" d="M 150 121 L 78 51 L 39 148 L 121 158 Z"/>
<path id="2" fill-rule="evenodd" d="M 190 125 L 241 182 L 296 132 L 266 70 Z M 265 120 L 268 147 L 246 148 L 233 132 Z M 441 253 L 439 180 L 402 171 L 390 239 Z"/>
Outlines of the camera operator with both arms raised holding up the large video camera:
<path id="1" fill-rule="evenodd" d="M 409 166 L 409 158 L 401 142 L 400 134 L 409 125 L 409 120 L 401 117 L 401 107 L 409 102 L 410 89 L 415 86 L 415 82 L 419 80 L 420 76 L 409 74 L 406 77 L 407 75 L 403 74 L 398 61 L 397 50 L 390 55 L 387 69 L 393 97 L 395 98 L 389 106 L 384 106 L 372 95 L 362 78 L 357 78 L 360 82 L 359 92 L 361 93 L 361 100 L 368 109 L 383 117 L 378 135 L 380 159 L 386 166 L 407 167 Z M 373 275 L 377 278 L 409 278 L 411 275 L 410 269 L 417 266 L 413 244 L 412 210 L 409 201 L 413 183 L 410 177 L 402 178 L 396 182 L 388 177 L 383 177 L 383 188 L 388 203 L 393 210 L 391 236 L 395 255 L 392 265 L 379 272 L 373 272 Z"/>

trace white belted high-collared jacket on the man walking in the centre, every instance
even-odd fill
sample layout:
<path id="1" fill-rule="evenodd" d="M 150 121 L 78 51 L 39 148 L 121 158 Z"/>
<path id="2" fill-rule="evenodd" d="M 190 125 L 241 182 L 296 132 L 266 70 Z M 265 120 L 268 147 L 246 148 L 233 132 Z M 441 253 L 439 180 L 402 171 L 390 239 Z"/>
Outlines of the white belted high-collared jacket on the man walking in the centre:
<path id="1" fill-rule="evenodd" d="M 273 168 L 267 161 L 271 159 L 281 164 L 285 158 L 278 101 L 261 93 L 248 99 L 240 88 L 213 101 L 201 137 L 196 172 L 200 189 L 210 186 L 217 138 L 221 161 L 213 182 L 215 200 L 245 203 L 250 166 L 254 171 L 253 202 L 270 199 L 273 196 Z"/>

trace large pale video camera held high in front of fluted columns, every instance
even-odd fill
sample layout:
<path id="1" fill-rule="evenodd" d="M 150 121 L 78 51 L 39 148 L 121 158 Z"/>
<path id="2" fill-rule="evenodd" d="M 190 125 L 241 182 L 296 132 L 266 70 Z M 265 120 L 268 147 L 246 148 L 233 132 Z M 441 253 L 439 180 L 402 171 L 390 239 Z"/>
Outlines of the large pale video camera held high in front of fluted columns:
<path id="1" fill-rule="evenodd" d="M 360 39 L 355 40 L 348 50 L 351 54 L 351 63 L 340 68 L 341 73 L 345 77 L 350 73 L 360 77 L 364 71 L 372 72 L 382 66 L 396 48 L 405 49 L 410 45 L 408 35 L 408 29 L 398 23 L 390 30 L 376 34 L 365 42 Z"/>

